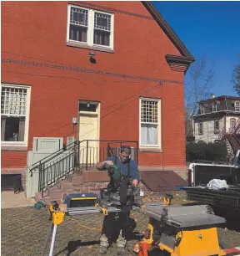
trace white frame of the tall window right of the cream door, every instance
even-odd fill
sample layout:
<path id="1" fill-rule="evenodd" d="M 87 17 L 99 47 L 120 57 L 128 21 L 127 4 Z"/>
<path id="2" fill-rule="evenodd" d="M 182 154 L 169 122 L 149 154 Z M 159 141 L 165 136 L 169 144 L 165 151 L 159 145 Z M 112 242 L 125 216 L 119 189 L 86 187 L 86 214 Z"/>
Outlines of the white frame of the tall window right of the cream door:
<path id="1" fill-rule="evenodd" d="M 142 144 L 142 140 L 141 140 L 141 125 L 142 125 L 142 121 L 141 121 L 141 106 L 142 106 L 142 101 L 143 100 L 148 100 L 148 101 L 157 101 L 158 102 L 158 144 L 157 145 L 143 145 Z M 139 99 L 139 147 L 140 148 L 161 148 L 161 142 L 162 142 L 162 138 L 161 138 L 161 120 L 162 120 L 162 115 L 161 115 L 161 99 L 153 99 L 153 98 L 145 98 L 145 97 L 141 97 Z"/>

